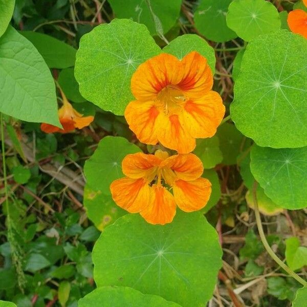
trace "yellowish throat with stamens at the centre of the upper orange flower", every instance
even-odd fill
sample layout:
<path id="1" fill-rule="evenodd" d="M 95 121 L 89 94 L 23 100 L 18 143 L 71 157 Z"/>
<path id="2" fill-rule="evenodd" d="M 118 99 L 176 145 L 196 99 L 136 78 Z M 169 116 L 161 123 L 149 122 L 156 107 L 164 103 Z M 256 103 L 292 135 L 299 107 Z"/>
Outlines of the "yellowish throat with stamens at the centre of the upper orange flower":
<path id="1" fill-rule="evenodd" d="M 172 84 L 164 87 L 158 94 L 157 99 L 160 102 L 160 109 L 165 115 L 177 114 L 186 101 L 182 91 Z"/>

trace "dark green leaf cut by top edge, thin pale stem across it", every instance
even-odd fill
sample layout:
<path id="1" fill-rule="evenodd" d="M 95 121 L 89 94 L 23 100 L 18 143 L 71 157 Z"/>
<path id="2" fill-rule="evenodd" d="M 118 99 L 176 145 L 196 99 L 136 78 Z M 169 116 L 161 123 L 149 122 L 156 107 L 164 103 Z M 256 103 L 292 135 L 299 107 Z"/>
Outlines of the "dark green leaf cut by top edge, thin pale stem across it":
<path id="1" fill-rule="evenodd" d="M 161 34 L 168 32 L 176 24 L 182 0 L 109 0 L 108 2 L 115 17 L 132 19 L 144 24 L 151 34 L 157 32 Z"/>

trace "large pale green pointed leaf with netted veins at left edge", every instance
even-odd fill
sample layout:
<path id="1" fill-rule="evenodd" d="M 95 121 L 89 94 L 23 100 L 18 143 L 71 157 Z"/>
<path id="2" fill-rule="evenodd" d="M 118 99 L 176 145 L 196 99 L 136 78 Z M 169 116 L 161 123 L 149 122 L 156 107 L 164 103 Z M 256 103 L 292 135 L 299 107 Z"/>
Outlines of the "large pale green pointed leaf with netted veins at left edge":
<path id="1" fill-rule="evenodd" d="M 55 84 L 32 43 L 11 26 L 0 38 L 0 112 L 60 126 Z"/>

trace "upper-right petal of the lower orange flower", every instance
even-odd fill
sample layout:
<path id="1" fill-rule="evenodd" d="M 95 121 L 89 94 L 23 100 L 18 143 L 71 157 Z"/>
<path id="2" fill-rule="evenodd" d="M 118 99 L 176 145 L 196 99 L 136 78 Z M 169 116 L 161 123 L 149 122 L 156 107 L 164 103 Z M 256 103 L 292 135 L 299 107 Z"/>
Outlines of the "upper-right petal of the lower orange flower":
<path id="1" fill-rule="evenodd" d="M 161 163 L 161 167 L 172 169 L 177 178 L 185 181 L 198 179 L 204 171 L 202 161 L 193 153 L 171 156 Z"/>

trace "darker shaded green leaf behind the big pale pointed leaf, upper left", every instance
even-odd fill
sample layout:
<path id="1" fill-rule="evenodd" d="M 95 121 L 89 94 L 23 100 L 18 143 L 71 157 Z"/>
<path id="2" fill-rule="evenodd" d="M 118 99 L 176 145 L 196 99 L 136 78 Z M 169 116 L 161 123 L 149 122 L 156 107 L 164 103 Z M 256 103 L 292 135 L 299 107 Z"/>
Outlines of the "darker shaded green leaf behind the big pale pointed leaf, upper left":
<path id="1" fill-rule="evenodd" d="M 21 31 L 41 54 L 50 68 L 67 68 L 75 65 L 77 50 L 52 36 L 33 31 Z"/>

